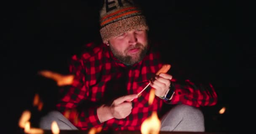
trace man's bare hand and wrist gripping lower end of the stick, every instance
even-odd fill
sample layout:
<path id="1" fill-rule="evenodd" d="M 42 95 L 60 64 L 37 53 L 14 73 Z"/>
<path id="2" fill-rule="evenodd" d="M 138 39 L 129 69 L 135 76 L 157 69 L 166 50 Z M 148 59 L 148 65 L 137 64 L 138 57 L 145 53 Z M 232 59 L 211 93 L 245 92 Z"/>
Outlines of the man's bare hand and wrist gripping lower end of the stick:
<path id="1" fill-rule="evenodd" d="M 102 123 L 112 118 L 124 119 L 131 113 L 133 99 L 138 98 L 136 94 L 126 95 L 115 99 L 111 106 L 101 106 L 97 109 L 99 121 Z"/>

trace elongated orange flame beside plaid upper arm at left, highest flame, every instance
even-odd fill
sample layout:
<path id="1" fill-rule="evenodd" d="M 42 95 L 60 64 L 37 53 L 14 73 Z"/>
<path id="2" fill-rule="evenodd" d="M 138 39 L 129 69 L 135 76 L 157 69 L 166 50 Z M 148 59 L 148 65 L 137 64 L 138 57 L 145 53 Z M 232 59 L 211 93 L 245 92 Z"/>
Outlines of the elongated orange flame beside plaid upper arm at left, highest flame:
<path id="1" fill-rule="evenodd" d="M 71 85 L 75 77 L 74 75 L 61 75 L 48 70 L 40 71 L 39 74 L 55 80 L 58 86 Z"/>

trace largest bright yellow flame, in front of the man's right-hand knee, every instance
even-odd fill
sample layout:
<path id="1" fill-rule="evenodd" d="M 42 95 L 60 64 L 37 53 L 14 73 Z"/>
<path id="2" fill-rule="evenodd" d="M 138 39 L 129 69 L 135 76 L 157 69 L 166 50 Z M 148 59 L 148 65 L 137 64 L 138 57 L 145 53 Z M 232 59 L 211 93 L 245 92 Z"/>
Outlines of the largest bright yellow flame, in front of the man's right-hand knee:
<path id="1" fill-rule="evenodd" d="M 161 121 L 158 119 L 157 112 L 153 111 L 152 115 L 141 124 L 141 134 L 159 134 Z"/>

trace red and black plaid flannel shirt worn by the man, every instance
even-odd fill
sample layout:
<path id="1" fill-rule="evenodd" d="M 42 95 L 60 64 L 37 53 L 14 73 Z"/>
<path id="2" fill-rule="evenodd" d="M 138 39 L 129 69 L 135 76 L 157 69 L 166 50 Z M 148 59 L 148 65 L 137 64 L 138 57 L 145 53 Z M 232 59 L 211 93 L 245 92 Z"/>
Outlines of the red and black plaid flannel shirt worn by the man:
<path id="1" fill-rule="evenodd" d="M 129 116 L 100 123 L 96 112 L 99 106 L 109 105 L 114 98 L 123 95 L 139 93 L 163 63 L 159 60 L 160 55 L 153 52 L 153 49 L 149 49 L 141 62 L 128 67 L 113 57 L 105 44 L 94 47 L 93 43 L 89 43 L 86 46 L 88 52 L 79 57 L 72 57 L 69 71 L 75 75 L 75 80 L 56 105 L 57 109 L 81 130 L 92 127 L 102 127 L 103 130 L 140 130 L 142 122 L 153 111 L 160 111 L 163 102 L 196 107 L 213 106 L 217 102 L 217 95 L 212 86 L 208 89 L 198 88 L 189 80 L 185 85 L 180 85 L 173 78 L 175 94 L 171 101 L 155 97 L 152 105 L 149 105 L 149 86 L 139 98 L 132 101 L 133 109 Z M 67 112 L 70 109 L 76 111 Z"/>

